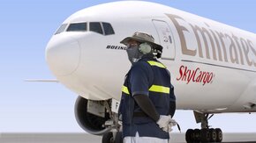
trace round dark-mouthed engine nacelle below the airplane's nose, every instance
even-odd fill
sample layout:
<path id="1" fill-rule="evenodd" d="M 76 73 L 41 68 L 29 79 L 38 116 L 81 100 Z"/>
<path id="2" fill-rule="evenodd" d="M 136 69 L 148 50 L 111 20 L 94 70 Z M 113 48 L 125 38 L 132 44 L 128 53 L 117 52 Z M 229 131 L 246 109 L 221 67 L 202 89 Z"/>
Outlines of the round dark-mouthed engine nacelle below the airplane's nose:
<path id="1" fill-rule="evenodd" d="M 87 103 L 87 99 L 78 97 L 75 104 L 75 116 L 80 127 L 94 135 L 102 135 L 105 132 L 109 132 L 109 128 L 103 127 L 105 122 L 109 120 L 109 114 L 105 113 L 105 118 L 102 118 L 89 113 L 87 111 Z"/>

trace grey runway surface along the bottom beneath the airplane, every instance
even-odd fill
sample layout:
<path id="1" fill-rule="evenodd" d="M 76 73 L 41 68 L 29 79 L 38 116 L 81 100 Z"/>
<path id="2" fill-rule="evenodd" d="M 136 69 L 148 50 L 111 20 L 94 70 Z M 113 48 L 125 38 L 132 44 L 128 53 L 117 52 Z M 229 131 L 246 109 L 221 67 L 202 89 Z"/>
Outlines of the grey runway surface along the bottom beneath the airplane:
<path id="1" fill-rule="evenodd" d="M 184 133 L 173 133 L 171 142 L 184 143 Z M 101 143 L 101 136 L 87 133 L 0 133 L 0 143 Z M 225 133 L 223 142 L 255 142 L 255 133 Z"/>

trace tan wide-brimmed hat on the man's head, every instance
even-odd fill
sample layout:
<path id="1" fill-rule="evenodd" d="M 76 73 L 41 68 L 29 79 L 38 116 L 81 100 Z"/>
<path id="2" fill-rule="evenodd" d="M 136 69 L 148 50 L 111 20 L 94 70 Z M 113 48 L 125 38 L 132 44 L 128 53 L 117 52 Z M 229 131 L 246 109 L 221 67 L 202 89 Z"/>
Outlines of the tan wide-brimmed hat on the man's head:
<path id="1" fill-rule="evenodd" d="M 125 46 L 127 46 L 129 40 L 134 39 L 139 41 L 140 43 L 143 42 L 147 42 L 148 44 L 150 44 L 154 49 L 160 50 L 162 51 L 162 46 L 158 45 L 156 43 L 154 43 L 154 38 L 152 35 L 149 35 L 145 32 L 134 32 L 134 34 L 132 35 L 132 37 L 126 37 L 125 39 L 123 39 L 120 43 L 124 44 Z"/>

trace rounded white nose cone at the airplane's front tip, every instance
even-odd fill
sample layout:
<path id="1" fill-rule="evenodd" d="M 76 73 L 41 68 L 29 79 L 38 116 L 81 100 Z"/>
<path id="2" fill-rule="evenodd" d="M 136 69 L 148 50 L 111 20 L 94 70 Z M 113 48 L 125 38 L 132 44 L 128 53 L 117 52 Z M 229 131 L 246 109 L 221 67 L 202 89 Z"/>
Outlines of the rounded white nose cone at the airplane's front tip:
<path id="1" fill-rule="evenodd" d="M 46 48 L 46 61 L 54 75 L 71 75 L 79 67 L 79 42 L 71 36 L 56 35 Z"/>

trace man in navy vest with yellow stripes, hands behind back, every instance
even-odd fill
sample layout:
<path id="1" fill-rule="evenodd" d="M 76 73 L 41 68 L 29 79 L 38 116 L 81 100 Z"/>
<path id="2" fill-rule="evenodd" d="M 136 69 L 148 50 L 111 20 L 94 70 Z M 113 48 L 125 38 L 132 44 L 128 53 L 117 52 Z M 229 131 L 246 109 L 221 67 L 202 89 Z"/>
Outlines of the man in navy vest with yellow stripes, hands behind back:
<path id="1" fill-rule="evenodd" d="M 135 32 L 120 43 L 132 68 L 125 76 L 119 112 L 123 121 L 124 143 L 167 143 L 176 97 L 170 83 L 168 69 L 156 58 L 162 54 L 162 46 L 144 32 Z"/>

